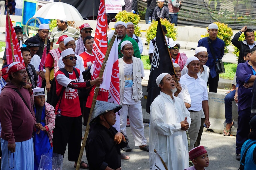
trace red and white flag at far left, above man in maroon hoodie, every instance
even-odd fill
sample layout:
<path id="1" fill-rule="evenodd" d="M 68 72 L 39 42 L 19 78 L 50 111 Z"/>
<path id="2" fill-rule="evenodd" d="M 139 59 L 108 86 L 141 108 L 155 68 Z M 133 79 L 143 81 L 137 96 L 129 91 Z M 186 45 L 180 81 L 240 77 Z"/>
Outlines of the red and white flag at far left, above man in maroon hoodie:
<path id="1" fill-rule="evenodd" d="M 20 61 L 21 64 L 24 65 L 25 67 L 25 63 L 23 60 L 23 56 L 21 54 L 20 51 L 20 46 L 18 43 L 18 39 L 14 30 L 14 27 L 12 25 L 12 21 L 10 19 L 10 26 L 11 26 L 11 34 L 12 37 L 10 37 L 10 31 L 9 31 L 9 23 L 8 23 L 8 17 L 10 19 L 9 15 L 6 15 L 6 27 L 5 27 L 5 44 L 6 44 L 6 60 L 7 60 L 7 64 L 11 64 L 13 62 L 12 60 L 12 48 L 11 48 L 11 38 L 12 38 L 12 43 L 13 43 L 13 50 L 14 50 L 14 59 L 15 61 Z"/>

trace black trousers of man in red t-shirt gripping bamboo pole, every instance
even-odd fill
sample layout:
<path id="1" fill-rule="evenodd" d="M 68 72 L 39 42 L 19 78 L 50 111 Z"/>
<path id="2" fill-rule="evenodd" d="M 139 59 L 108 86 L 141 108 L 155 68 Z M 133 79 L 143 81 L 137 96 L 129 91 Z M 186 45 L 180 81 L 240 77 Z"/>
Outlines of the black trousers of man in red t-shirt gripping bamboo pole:
<path id="1" fill-rule="evenodd" d="M 77 161 L 81 148 L 82 115 L 56 117 L 53 129 L 53 152 L 64 156 L 68 144 L 68 160 Z"/>

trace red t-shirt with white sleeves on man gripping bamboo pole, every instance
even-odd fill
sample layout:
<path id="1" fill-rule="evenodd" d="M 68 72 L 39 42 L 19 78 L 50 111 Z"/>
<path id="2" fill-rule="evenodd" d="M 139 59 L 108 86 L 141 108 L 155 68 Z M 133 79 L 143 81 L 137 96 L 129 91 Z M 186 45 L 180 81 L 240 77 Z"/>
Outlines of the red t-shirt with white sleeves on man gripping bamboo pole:
<path id="1" fill-rule="evenodd" d="M 56 105 L 55 114 L 57 113 L 59 108 L 61 109 L 61 115 L 63 116 L 78 117 L 82 115 L 81 109 L 80 109 L 79 97 L 78 97 L 78 90 L 67 87 L 69 83 L 72 81 L 84 82 L 83 75 L 80 74 L 80 70 L 77 69 L 77 71 L 79 74 L 79 80 L 77 79 L 74 70 L 72 73 L 69 73 L 69 78 L 66 77 L 65 74 L 60 70 L 56 72 L 55 77 L 56 77 L 57 95 L 61 93 L 61 89 L 63 86 L 66 87 L 66 89 L 63 92 L 60 107 L 59 107 L 60 101 L 58 101 Z"/>

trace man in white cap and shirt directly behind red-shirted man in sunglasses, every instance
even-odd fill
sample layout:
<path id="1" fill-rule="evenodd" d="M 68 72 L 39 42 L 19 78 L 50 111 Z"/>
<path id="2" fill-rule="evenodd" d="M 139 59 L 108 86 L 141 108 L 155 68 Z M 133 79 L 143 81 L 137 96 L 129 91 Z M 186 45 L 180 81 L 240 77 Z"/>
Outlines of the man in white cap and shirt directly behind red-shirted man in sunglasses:
<path id="1" fill-rule="evenodd" d="M 72 38 L 72 37 L 65 38 L 64 39 L 64 47 L 65 47 L 65 49 L 72 48 L 73 51 L 75 52 L 76 45 L 75 45 L 74 38 Z M 77 57 L 75 68 L 78 68 L 81 72 L 85 71 L 85 69 L 83 67 L 83 64 L 84 64 L 83 58 L 77 54 L 75 54 L 75 56 Z M 59 66 L 59 68 L 64 67 L 64 63 L 62 60 L 58 61 L 58 66 Z"/>

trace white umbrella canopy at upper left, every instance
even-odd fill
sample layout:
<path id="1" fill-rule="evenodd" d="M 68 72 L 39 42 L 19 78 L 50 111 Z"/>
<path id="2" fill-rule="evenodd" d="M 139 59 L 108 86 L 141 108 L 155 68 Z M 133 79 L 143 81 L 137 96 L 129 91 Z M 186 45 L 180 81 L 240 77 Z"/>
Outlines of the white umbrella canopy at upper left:
<path id="1" fill-rule="evenodd" d="M 63 2 L 53 2 L 42 6 L 33 17 L 44 19 L 67 18 L 67 21 L 83 21 L 83 17 L 72 5 Z"/>

